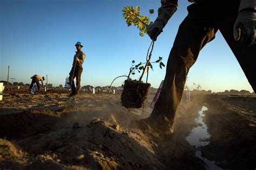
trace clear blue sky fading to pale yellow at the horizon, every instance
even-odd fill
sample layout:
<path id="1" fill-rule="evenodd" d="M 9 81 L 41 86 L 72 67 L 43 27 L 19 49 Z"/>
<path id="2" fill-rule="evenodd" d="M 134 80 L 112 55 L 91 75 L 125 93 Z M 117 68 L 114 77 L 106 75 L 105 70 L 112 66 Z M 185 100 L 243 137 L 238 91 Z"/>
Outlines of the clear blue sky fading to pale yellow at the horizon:
<path id="1" fill-rule="evenodd" d="M 178 26 L 187 15 L 187 1 L 165 26 L 155 43 L 152 60 L 163 57 L 166 64 Z M 65 83 L 69 75 L 75 43 L 81 41 L 85 52 L 82 86 L 110 85 L 114 77 L 127 75 L 132 60 L 145 61 L 150 38 L 139 37 L 137 27 L 127 27 L 122 16 L 126 5 L 140 6 L 143 15 L 149 9 L 157 17 L 160 0 L 1 0 L 0 1 L 0 80 L 10 77 L 30 83 L 34 74 L 46 76 L 53 86 Z M 158 88 L 165 68 L 154 67 L 149 82 Z M 139 74 L 134 75 L 137 79 Z M 124 79 L 113 86 L 120 86 Z M 244 73 L 220 33 L 200 53 L 188 74 L 188 85 L 199 83 L 202 89 L 253 91 Z"/>

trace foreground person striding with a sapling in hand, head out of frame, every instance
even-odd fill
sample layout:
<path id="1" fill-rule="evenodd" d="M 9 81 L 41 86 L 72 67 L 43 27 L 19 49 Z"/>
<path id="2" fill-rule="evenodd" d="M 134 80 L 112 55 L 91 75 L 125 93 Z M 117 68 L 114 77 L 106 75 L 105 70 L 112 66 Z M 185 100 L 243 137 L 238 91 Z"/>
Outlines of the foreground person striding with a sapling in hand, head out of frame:
<path id="1" fill-rule="evenodd" d="M 167 133 L 173 132 L 175 112 L 183 95 L 188 70 L 196 62 L 200 50 L 214 39 L 218 30 L 256 91 L 256 1 L 189 1 L 193 4 L 187 7 L 188 15 L 179 26 L 167 61 L 163 88 L 152 114 L 144 120 Z M 147 27 L 152 40 L 157 40 L 177 8 L 178 0 L 161 0 L 157 19 Z"/>

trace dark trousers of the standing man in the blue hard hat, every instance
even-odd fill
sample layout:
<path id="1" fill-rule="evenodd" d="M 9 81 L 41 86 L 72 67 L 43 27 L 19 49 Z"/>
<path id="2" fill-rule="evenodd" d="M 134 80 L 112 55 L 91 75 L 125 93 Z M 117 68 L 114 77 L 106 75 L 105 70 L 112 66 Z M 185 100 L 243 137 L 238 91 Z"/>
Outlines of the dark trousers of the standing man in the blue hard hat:
<path id="1" fill-rule="evenodd" d="M 71 83 L 72 94 L 79 93 L 82 72 L 83 72 L 82 66 L 76 66 L 75 72 L 74 72 L 74 68 L 71 69 L 71 72 L 70 72 L 71 75 L 69 76 L 69 81 Z M 74 75 L 73 75 L 73 73 L 74 73 Z M 75 81 L 74 81 L 75 77 L 76 77 L 76 86 L 77 87 L 75 87 Z"/>

